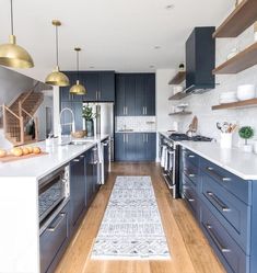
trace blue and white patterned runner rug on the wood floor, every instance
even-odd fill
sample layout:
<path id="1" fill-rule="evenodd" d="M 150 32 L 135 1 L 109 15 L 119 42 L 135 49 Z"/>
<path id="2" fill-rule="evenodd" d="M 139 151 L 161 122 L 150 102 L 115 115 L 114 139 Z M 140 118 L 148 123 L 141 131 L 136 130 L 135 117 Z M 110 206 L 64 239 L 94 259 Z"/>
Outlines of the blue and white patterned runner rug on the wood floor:
<path id="1" fill-rule="evenodd" d="M 117 177 L 92 259 L 170 259 L 150 177 Z"/>

